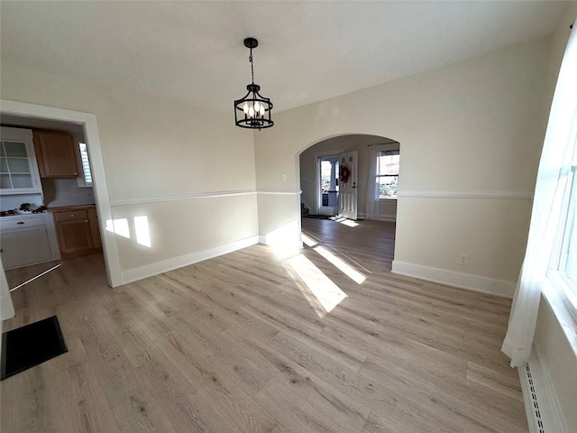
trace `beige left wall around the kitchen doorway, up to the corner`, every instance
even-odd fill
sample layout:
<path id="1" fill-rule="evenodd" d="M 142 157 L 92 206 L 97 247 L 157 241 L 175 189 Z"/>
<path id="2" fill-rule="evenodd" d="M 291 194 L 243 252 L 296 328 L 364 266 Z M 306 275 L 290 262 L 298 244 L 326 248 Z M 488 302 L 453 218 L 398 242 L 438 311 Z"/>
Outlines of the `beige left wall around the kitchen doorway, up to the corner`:
<path id="1" fill-rule="evenodd" d="M 3 99 L 96 115 L 123 272 L 258 235 L 252 132 L 216 115 L 88 79 L 1 65 Z M 89 143 L 88 143 L 89 144 Z M 223 192 L 249 191 L 223 196 Z M 207 198 L 214 194 L 215 198 Z M 180 196 L 175 201 L 161 201 Z M 135 239 L 148 217 L 151 247 Z"/>

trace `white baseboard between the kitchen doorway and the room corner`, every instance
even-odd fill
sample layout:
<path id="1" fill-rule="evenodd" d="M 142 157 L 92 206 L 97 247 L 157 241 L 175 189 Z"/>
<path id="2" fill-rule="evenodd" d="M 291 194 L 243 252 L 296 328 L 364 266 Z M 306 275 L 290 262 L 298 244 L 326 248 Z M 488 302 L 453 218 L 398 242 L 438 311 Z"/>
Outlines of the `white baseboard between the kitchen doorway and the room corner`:
<path id="1" fill-rule="evenodd" d="M 230 244 L 224 244 L 216 246 L 205 251 L 198 251 L 197 253 L 189 253 L 184 255 L 179 255 L 178 257 L 172 257 L 171 259 L 163 260 L 162 262 L 147 264 L 146 266 L 141 266 L 139 268 L 129 269 L 128 271 L 122 272 L 123 284 L 129 282 L 142 280 L 144 278 L 151 277 L 153 275 L 158 275 L 162 272 L 169 272 L 173 269 L 182 268 L 183 266 L 188 266 L 189 264 L 198 263 L 205 261 L 207 259 L 212 259 L 219 255 L 233 253 L 236 250 L 246 248 L 259 243 L 259 236 L 251 236 L 240 241 L 234 241 Z"/>

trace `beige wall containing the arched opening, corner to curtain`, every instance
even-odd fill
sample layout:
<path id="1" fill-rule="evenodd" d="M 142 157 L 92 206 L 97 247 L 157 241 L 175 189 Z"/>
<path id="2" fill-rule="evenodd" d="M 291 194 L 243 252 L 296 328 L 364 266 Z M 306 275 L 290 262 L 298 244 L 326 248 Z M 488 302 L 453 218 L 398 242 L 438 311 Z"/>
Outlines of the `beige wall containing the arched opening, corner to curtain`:
<path id="1" fill-rule="evenodd" d="M 298 188 L 298 154 L 325 138 L 391 137 L 402 147 L 399 190 L 412 194 L 398 199 L 395 260 L 506 281 L 511 295 L 545 131 L 550 48 L 550 38 L 531 41 L 280 113 L 255 134 L 257 186 Z M 274 225 L 267 206 L 289 203 L 259 202 L 261 235 Z M 482 240 L 472 235 L 480 227 Z M 459 253 L 468 267 L 457 265 Z"/>

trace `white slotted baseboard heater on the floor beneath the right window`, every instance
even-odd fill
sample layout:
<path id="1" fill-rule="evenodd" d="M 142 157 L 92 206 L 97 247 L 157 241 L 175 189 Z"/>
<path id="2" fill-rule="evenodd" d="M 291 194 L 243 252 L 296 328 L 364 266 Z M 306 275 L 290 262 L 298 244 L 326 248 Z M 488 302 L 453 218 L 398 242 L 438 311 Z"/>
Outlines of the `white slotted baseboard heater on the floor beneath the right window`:
<path id="1" fill-rule="evenodd" d="M 534 345 L 527 367 L 519 367 L 519 380 L 530 433 L 569 433 L 554 391 L 551 374 Z"/>

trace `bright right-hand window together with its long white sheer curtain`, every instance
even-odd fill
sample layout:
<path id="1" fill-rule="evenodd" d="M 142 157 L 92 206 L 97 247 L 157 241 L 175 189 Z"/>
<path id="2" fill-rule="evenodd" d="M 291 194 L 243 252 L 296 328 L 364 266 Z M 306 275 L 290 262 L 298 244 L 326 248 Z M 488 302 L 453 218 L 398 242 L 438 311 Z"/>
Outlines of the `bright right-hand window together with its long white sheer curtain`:
<path id="1" fill-rule="evenodd" d="M 527 364 L 541 294 L 562 299 L 577 328 L 577 30 L 572 29 L 554 91 L 539 161 L 525 260 L 501 350 Z M 564 309 L 563 309 L 564 311 Z"/>

